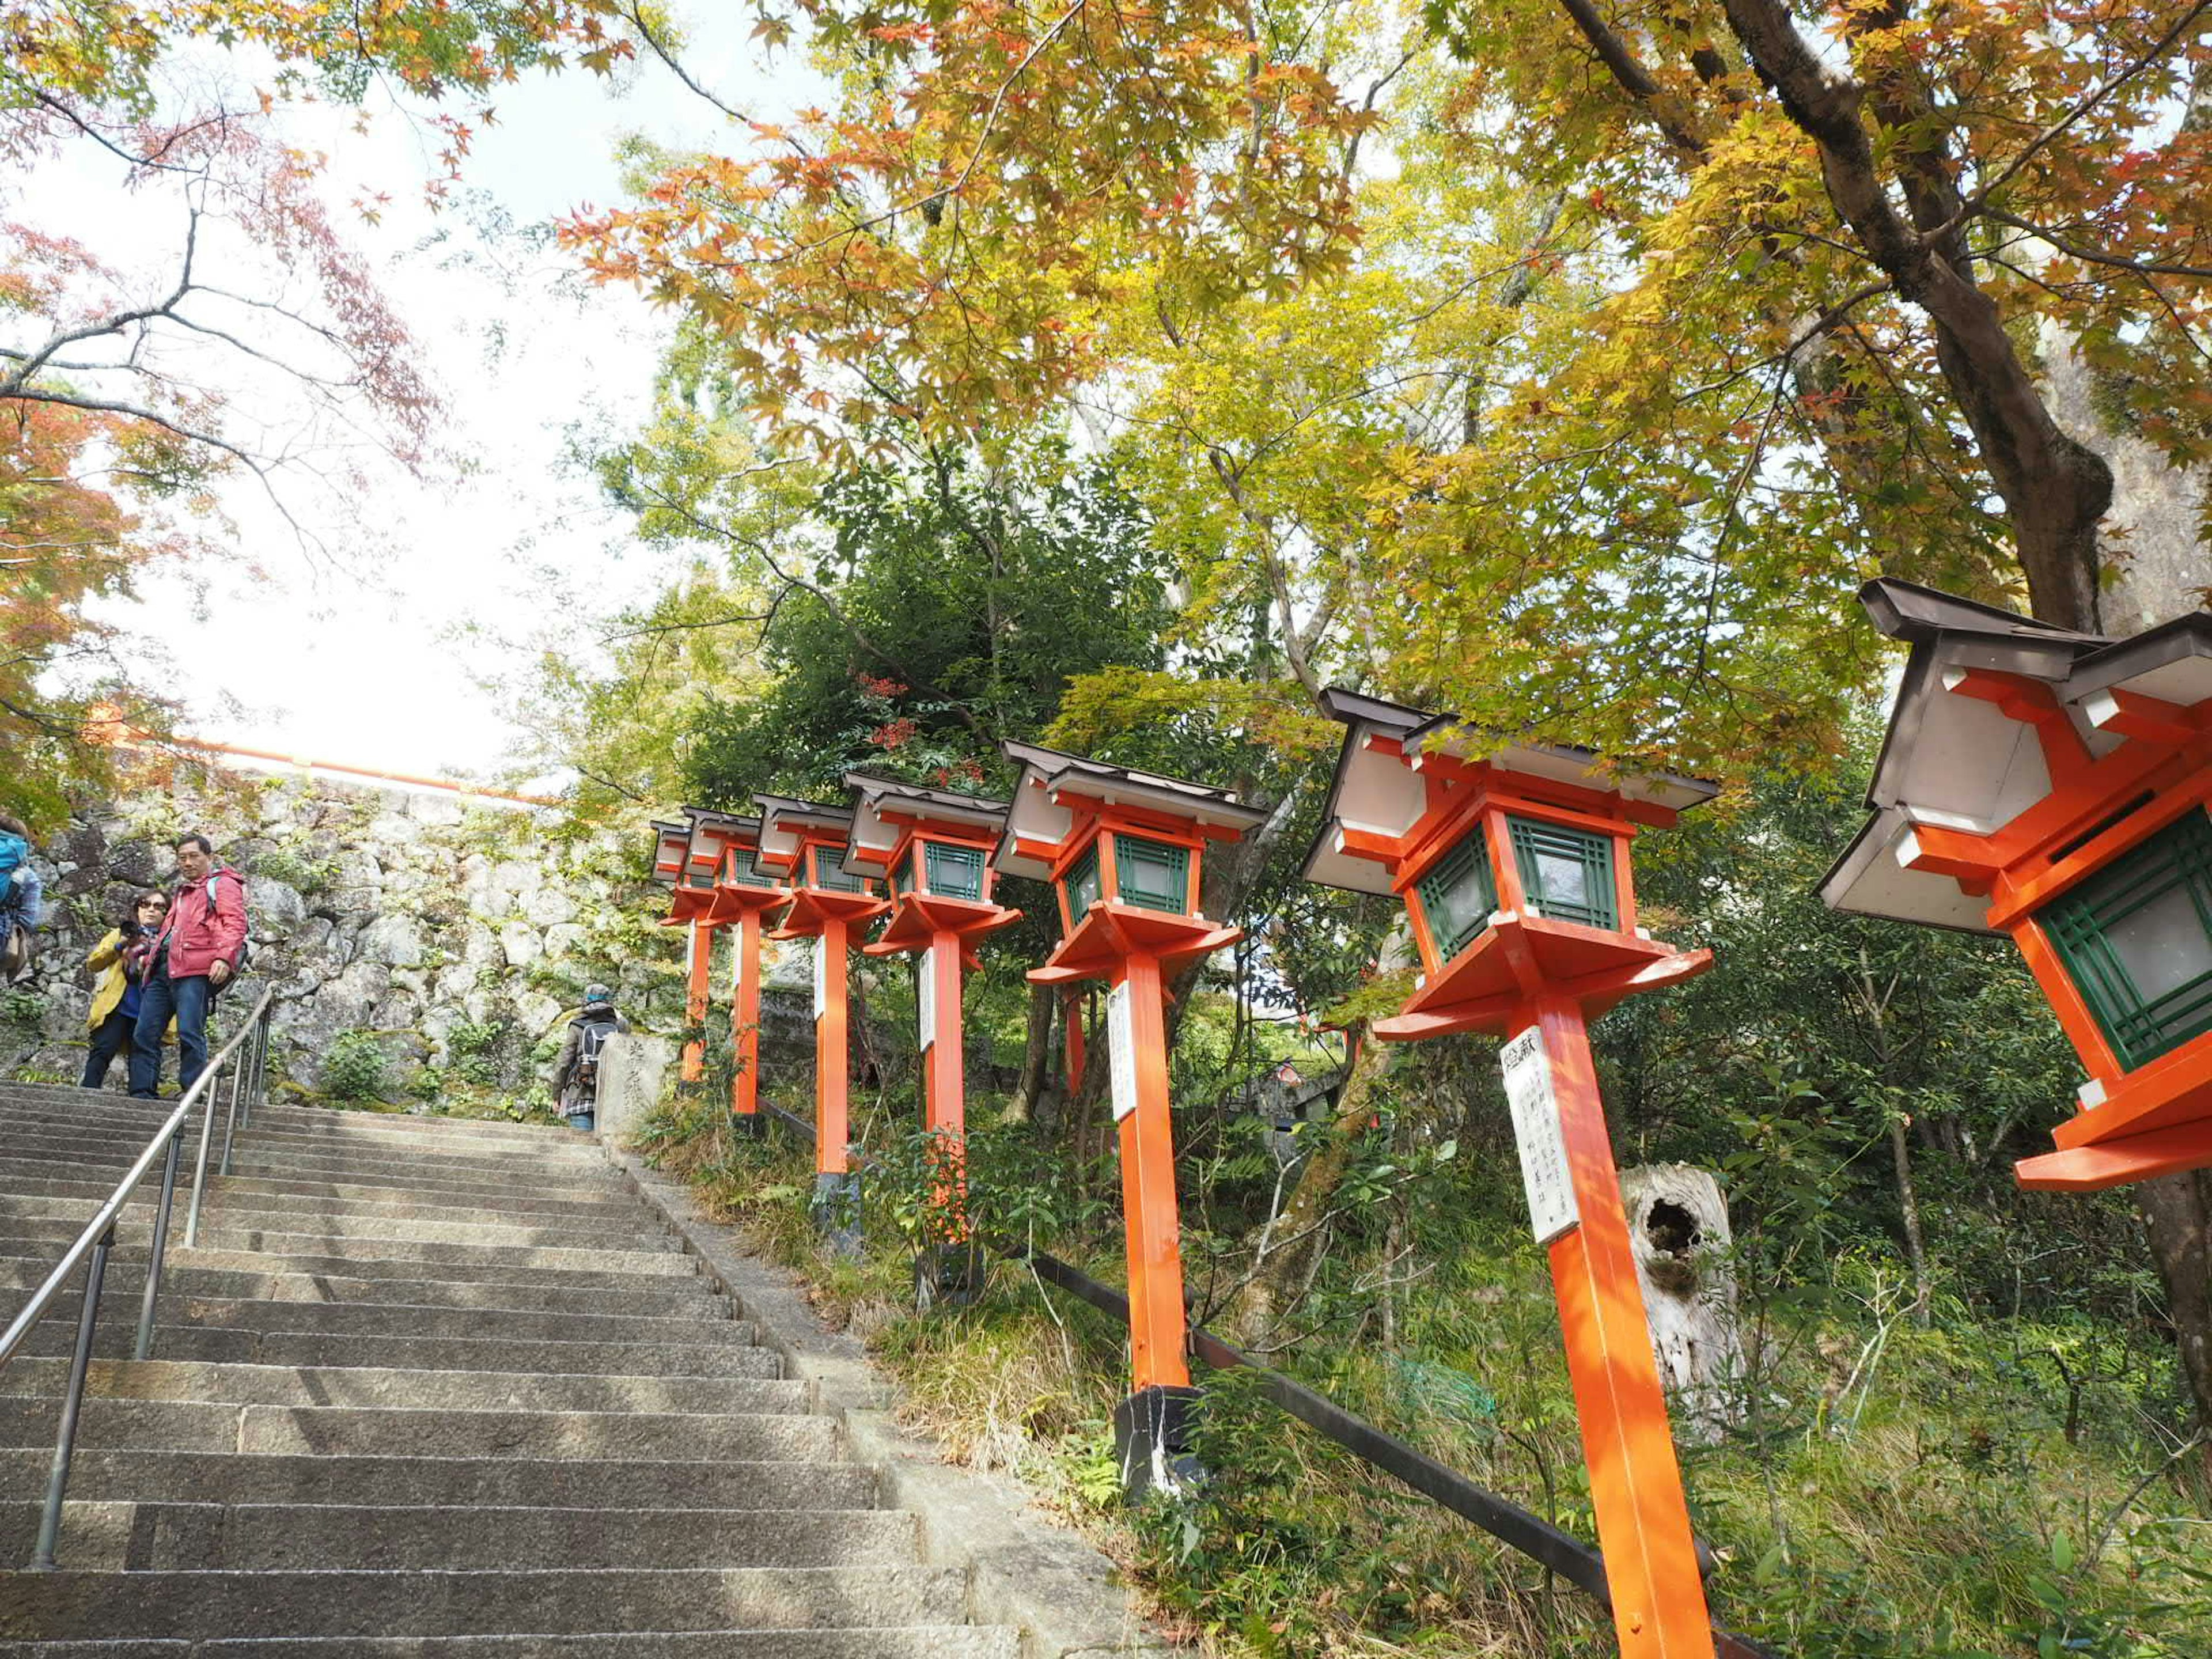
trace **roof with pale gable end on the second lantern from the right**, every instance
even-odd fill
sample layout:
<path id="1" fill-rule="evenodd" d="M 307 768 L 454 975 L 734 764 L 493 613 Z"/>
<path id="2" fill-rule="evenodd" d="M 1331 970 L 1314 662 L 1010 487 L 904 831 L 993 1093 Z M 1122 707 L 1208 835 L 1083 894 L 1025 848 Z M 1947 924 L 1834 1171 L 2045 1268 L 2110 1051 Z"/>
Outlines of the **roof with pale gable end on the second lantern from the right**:
<path id="1" fill-rule="evenodd" d="M 1719 783 L 1679 772 L 1615 768 L 1597 750 L 1577 743 L 1486 741 L 1467 730 L 1458 714 L 1433 714 L 1340 686 L 1325 690 L 1321 706 L 1347 728 L 1321 834 L 1305 856 L 1305 878 L 1323 887 L 1358 894 L 1391 891 L 1396 872 L 1376 858 L 1349 852 L 1345 832 L 1391 841 L 1405 836 L 1429 810 L 1429 790 L 1420 776 L 1425 754 L 1482 761 L 1502 772 L 1599 790 L 1661 812 L 1683 812 L 1721 792 Z"/>

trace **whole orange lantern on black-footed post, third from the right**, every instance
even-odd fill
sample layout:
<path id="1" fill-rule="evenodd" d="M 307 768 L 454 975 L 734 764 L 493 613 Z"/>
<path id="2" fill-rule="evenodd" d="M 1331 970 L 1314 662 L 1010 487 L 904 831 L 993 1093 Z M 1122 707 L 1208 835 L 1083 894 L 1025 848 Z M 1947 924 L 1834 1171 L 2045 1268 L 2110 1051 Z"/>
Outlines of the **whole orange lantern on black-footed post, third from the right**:
<path id="1" fill-rule="evenodd" d="M 1031 743 L 1004 748 L 1022 776 L 998 867 L 1009 876 L 1051 880 L 1060 898 L 1060 947 L 1029 978 L 1037 984 L 1104 980 L 1110 987 L 1106 1055 L 1121 1146 L 1135 1383 L 1115 1409 L 1121 1484 L 1130 1495 L 1155 1486 L 1175 1491 L 1190 1469 L 1188 1418 L 1197 1389 L 1183 1358 L 1188 1327 L 1168 1110 L 1166 982 L 1243 938 L 1241 927 L 1223 927 L 1199 911 L 1201 860 L 1208 843 L 1237 841 L 1267 814 L 1241 805 L 1225 790 L 1126 772 Z"/>

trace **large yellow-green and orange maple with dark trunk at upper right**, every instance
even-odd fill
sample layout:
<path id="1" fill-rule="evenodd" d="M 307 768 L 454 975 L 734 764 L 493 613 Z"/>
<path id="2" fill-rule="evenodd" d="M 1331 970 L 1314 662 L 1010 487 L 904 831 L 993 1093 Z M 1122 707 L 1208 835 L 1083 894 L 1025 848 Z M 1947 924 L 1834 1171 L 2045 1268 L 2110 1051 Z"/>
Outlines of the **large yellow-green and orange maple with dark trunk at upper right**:
<path id="1" fill-rule="evenodd" d="M 1110 405 L 1305 686 L 1741 770 L 1834 743 L 1865 575 L 2097 626 L 2112 476 L 2046 356 L 2212 456 L 2205 18 L 770 4 L 836 108 L 568 237 L 830 453 Z M 2146 1208 L 2212 1420 L 2212 1190 Z"/>

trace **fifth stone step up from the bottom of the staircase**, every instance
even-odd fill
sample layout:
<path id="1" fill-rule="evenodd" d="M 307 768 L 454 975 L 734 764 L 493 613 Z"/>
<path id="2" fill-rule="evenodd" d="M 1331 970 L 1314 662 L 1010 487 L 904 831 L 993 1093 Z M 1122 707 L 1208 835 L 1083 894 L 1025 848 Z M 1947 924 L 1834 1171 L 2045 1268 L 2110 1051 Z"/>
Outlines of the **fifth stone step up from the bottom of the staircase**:
<path id="1" fill-rule="evenodd" d="M 0 1396 L 0 1444 L 51 1447 L 55 1402 Z M 80 1447 L 321 1458 L 836 1458 L 832 1418 L 776 1411 L 405 1411 L 398 1407 L 84 1402 Z"/>

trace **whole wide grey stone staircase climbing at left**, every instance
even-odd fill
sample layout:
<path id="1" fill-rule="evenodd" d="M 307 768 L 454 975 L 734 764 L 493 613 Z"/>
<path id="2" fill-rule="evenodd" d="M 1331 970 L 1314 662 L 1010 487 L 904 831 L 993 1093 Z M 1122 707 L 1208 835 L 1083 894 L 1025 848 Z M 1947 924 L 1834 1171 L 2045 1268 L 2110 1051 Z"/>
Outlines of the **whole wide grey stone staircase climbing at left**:
<path id="1" fill-rule="evenodd" d="M 0 1086 L 0 1318 L 148 1106 Z M 582 1139 L 270 1106 L 197 1250 L 179 1186 L 133 1363 L 157 1190 L 108 1267 L 55 1573 L 22 1568 L 77 1298 L 0 1367 L 0 1655 L 1020 1655 Z"/>

